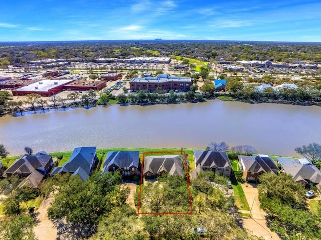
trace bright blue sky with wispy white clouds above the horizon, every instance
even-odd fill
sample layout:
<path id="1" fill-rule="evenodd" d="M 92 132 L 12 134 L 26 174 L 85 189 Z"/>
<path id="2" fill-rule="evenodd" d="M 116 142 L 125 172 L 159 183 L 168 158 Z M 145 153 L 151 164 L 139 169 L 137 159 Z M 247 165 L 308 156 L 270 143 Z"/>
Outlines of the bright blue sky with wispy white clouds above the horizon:
<path id="1" fill-rule="evenodd" d="M 320 0 L 2 1 L 0 41 L 321 42 Z"/>

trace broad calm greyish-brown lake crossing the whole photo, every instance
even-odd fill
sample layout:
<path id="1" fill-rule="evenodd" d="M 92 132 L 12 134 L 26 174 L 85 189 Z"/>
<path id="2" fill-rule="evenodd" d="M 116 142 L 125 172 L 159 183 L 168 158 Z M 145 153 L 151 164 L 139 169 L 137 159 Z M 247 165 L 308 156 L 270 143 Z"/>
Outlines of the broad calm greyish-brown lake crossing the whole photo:
<path id="1" fill-rule="evenodd" d="M 212 141 L 252 145 L 261 154 L 297 156 L 294 148 L 321 143 L 321 108 L 230 101 L 75 108 L 0 117 L 0 143 L 10 155 L 101 148 L 205 147 Z"/>

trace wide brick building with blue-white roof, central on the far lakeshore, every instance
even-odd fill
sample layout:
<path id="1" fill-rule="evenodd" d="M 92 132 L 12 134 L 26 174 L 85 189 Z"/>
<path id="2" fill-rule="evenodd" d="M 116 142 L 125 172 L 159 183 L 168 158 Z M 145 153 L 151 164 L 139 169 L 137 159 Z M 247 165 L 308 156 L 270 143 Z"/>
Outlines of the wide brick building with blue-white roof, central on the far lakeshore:
<path id="1" fill-rule="evenodd" d="M 190 90 L 192 85 L 191 78 L 169 76 L 159 74 L 157 77 L 133 78 L 130 80 L 130 90 L 147 90 L 155 91 L 157 88 L 163 90 Z"/>

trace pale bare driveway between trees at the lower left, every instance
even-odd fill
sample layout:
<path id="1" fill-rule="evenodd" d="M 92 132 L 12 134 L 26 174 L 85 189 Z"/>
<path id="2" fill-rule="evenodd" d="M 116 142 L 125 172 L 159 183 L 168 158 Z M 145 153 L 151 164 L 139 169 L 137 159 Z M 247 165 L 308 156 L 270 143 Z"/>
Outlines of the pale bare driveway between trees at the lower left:
<path id="1" fill-rule="evenodd" d="M 38 240 L 55 240 L 57 239 L 57 229 L 54 227 L 53 223 L 48 219 L 47 209 L 50 206 L 50 202 L 53 197 L 43 200 L 39 209 L 38 225 L 34 228 L 35 235 Z"/>

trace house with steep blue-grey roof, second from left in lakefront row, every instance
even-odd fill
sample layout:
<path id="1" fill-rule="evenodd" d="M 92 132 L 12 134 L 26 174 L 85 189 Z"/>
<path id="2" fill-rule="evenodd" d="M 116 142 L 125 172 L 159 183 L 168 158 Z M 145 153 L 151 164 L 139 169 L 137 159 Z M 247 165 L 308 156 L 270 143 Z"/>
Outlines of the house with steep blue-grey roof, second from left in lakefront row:
<path id="1" fill-rule="evenodd" d="M 58 173 L 71 173 L 86 181 L 91 175 L 97 160 L 96 147 L 78 147 L 72 152 L 68 162 L 61 167 L 54 167 L 50 175 Z"/>

